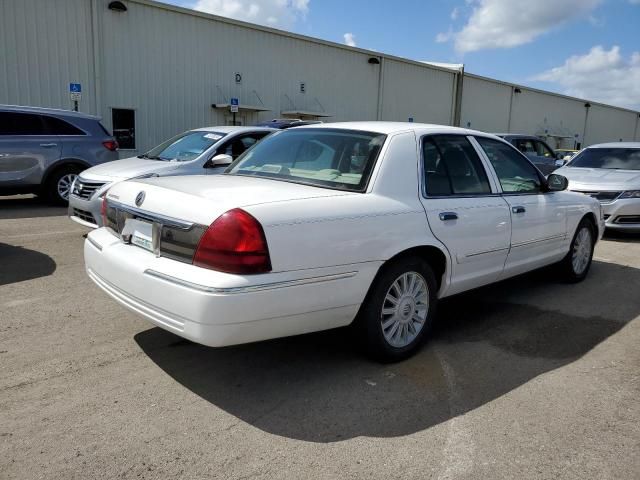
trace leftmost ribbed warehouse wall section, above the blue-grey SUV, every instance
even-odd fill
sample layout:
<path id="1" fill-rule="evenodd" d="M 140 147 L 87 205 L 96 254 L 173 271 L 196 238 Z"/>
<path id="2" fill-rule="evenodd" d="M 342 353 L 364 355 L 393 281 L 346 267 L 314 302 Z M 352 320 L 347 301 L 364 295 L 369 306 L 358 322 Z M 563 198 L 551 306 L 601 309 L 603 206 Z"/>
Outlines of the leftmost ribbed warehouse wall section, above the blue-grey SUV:
<path id="1" fill-rule="evenodd" d="M 0 103 L 71 109 L 69 83 L 95 113 L 91 2 L 0 0 Z"/>

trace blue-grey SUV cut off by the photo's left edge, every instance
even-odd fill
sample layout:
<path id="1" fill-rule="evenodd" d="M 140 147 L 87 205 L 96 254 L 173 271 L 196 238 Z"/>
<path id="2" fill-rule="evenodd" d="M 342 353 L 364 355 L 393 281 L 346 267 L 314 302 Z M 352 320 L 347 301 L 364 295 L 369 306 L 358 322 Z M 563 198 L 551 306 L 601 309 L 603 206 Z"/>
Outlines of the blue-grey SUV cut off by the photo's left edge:
<path id="1" fill-rule="evenodd" d="M 35 193 L 66 204 L 76 176 L 118 158 L 99 117 L 0 105 L 0 195 Z"/>

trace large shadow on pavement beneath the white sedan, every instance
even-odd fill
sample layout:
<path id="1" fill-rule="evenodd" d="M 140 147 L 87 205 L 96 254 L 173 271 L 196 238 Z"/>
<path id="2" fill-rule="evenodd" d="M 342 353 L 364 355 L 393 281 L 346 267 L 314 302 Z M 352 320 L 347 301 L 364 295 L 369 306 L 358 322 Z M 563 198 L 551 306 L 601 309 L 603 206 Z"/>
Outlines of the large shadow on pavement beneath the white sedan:
<path id="1" fill-rule="evenodd" d="M 594 262 L 593 270 L 577 285 L 549 280 L 549 271 L 541 271 L 445 300 L 431 340 L 396 364 L 364 358 L 346 329 L 219 349 L 159 328 L 135 340 L 176 381 L 266 432 L 311 442 L 397 437 L 579 359 L 640 314 L 640 300 L 620 289 L 639 285 L 640 270 L 603 262 Z M 572 296 L 568 304 L 518 303 L 527 289 L 534 298 Z M 595 291 L 626 306 L 611 315 L 606 307 L 571 314 L 575 302 L 598 301 Z"/>

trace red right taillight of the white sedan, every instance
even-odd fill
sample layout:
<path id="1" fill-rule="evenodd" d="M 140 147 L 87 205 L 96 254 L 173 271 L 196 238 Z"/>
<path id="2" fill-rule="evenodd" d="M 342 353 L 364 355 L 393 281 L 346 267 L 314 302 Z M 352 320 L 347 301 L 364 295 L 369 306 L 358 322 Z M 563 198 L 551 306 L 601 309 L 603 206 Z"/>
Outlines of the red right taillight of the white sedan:
<path id="1" fill-rule="evenodd" d="M 271 271 L 262 225 L 244 210 L 229 210 L 204 232 L 193 256 L 193 264 L 227 273 Z"/>

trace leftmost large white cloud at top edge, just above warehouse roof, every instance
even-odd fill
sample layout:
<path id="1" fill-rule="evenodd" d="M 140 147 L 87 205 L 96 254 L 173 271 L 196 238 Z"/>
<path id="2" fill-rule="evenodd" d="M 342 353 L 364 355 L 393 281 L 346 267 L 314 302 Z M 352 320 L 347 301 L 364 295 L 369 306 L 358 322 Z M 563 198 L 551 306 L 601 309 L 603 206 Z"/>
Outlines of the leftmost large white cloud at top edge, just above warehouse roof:
<path id="1" fill-rule="evenodd" d="M 195 10 L 270 27 L 289 28 L 309 11 L 310 0 L 197 0 Z"/>

